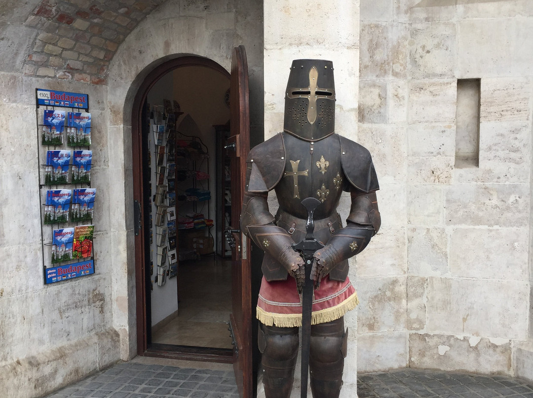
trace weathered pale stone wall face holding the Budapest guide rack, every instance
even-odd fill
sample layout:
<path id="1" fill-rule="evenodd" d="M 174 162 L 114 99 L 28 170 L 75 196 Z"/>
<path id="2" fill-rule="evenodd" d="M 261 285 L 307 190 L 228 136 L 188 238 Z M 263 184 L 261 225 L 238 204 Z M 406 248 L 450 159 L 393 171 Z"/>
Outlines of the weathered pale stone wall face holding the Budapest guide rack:
<path id="1" fill-rule="evenodd" d="M 91 148 L 91 186 L 98 193 L 93 218 L 97 271 L 52 285 L 43 282 L 40 207 L 47 188 L 39 189 L 45 152 L 37 133 L 36 88 L 88 94 L 92 140 L 98 143 Z M 0 395 L 23 398 L 72 383 L 119 358 L 111 301 L 114 247 L 108 243 L 113 239 L 109 215 L 114 192 L 109 182 L 107 92 L 102 86 L 16 72 L 0 72 L 0 89 Z M 45 235 L 44 243 L 51 239 Z"/>

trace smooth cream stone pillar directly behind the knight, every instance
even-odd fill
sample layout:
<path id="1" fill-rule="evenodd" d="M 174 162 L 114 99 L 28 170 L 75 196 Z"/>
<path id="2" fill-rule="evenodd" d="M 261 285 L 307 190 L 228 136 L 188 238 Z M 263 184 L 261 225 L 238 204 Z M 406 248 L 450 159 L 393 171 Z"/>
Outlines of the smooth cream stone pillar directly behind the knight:
<path id="1" fill-rule="evenodd" d="M 336 131 L 357 141 L 357 101 L 359 76 L 359 2 L 312 0 L 304 5 L 289 0 L 264 0 L 264 125 L 265 139 L 283 129 L 285 88 L 292 61 L 326 59 L 335 69 Z M 271 212 L 277 210 L 273 197 Z M 340 212 L 350 209 L 346 197 Z M 353 265 L 353 264 L 352 264 Z M 355 279 L 356 267 L 350 278 Z M 356 396 L 357 317 L 355 311 L 345 317 L 349 333 L 342 397 Z M 297 369 L 300 361 L 296 365 Z M 264 396 L 259 386 L 258 397 Z M 311 392 L 309 391 L 309 396 Z M 293 397 L 300 396 L 300 372 L 295 372 Z"/>

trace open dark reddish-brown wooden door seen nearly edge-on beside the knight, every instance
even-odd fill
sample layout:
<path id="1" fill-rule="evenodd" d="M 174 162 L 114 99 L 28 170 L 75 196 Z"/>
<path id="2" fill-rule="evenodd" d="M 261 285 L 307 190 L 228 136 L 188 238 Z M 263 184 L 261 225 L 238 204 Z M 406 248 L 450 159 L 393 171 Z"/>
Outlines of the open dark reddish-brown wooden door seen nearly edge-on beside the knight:
<path id="1" fill-rule="evenodd" d="M 249 152 L 248 64 L 244 46 L 233 49 L 230 86 L 231 125 L 226 147 L 231 156 L 232 309 L 230 328 L 235 341 L 233 369 L 241 398 L 252 397 L 252 276 L 250 242 L 239 230 Z"/>

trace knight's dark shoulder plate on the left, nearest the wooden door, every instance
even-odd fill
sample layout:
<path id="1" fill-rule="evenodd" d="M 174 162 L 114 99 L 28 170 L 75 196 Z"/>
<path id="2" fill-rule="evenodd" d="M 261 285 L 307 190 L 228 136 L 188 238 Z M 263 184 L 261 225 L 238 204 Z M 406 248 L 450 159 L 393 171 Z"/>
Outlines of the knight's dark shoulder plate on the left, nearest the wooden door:
<path id="1" fill-rule="evenodd" d="M 248 155 L 251 168 L 248 192 L 268 192 L 278 183 L 285 170 L 285 146 L 281 134 L 254 146 Z"/>

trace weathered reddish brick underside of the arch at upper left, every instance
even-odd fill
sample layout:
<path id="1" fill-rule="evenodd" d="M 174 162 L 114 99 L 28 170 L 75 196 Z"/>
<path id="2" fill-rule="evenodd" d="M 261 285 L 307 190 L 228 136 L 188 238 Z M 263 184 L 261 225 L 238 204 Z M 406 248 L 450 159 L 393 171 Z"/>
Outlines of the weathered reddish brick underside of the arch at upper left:
<path id="1" fill-rule="evenodd" d="M 106 84 L 124 39 L 166 0 L 42 0 L 24 25 L 38 30 L 23 73 Z"/>

